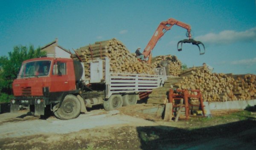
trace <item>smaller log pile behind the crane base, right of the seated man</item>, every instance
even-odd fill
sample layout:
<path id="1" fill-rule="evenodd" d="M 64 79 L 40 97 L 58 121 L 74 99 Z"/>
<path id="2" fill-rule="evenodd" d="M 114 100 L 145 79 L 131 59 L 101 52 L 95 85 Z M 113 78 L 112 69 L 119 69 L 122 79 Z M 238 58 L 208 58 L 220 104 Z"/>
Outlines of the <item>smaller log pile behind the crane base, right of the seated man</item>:
<path id="1" fill-rule="evenodd" d="M 153 68 L 157 68 L 158 64 L 163 60 L 166 59 L 169 62 L 169 73 L 172 76 L 178 76 L 181 72 L 181 62 L 177 59 L 176 56 L 166 55 L 166 56 L 157 56 L 153 57 L 151 60 L 151 66 Z"/>

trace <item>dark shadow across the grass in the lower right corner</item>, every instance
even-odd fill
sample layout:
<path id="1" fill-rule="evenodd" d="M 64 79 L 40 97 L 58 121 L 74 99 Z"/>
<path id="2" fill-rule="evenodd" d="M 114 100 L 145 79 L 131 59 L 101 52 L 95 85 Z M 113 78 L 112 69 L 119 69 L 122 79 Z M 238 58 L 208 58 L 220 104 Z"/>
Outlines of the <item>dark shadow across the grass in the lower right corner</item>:
<path id="1" fill-rule="evenodd" d="M 142 150 L 255 150 L 256 121 L 180 129 L 176 127 L 137 127 Z"/>

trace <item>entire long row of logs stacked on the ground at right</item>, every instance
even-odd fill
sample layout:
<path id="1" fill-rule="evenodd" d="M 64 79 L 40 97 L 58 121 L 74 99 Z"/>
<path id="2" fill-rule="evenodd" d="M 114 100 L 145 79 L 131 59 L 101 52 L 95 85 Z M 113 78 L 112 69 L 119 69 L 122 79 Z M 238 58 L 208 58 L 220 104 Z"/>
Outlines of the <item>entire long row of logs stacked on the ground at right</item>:
<path id="1" fill-rule="evenodd" d="M 163 88 L 152 91 L 148 102 L 165 104 L 169 88 L 199 89 L 204 101 L 208 102 L 255 99 L 256 75 L 212 74 L 203 66 L 193 67 L 179 77 L 168 78 Z"/>

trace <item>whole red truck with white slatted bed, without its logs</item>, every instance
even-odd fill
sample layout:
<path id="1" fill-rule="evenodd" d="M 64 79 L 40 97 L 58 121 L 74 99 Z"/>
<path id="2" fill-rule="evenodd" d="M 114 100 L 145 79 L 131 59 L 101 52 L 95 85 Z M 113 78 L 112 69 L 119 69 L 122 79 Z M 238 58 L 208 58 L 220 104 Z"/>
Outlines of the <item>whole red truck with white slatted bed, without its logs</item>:
<path id="1" fill-rule="evenodd" d="M 104 69 L 103 69 L 104 68 Z M 22 63 L 12 84 L 15 98 L 11 112 L 29 105 L 35 116 L 53 112 L 59 119 L 74 119 L 86 107 L 103 105 L 113 110 L 133 105 L 138 93 L 163 85 L 166 76 L 115 74 L 109 71 L 108 58 L 90 62 L 90 80 L 83 79 L 81 62 L 68 58 L 35 58 Z"/>

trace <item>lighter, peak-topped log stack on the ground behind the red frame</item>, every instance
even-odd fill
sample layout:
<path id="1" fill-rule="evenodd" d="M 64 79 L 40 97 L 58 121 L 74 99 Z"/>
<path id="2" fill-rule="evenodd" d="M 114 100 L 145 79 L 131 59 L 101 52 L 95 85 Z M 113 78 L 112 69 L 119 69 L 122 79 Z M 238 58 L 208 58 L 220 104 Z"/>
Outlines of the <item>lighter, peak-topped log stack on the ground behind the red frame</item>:
<path id="1" fill-rule="evenodd" d="M 204 101 L 231 101 L 237 100 L 233 94 L 235 79 L 226 74 L 211 73 L 205 67 L 189 68 L 180 74 L 182 81 L 176 83 L 177 88 L 199 89 Z"/>

